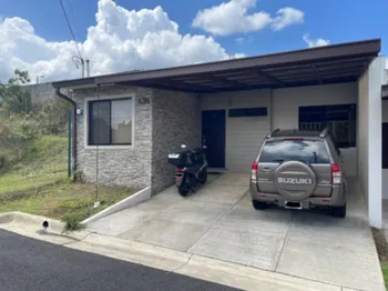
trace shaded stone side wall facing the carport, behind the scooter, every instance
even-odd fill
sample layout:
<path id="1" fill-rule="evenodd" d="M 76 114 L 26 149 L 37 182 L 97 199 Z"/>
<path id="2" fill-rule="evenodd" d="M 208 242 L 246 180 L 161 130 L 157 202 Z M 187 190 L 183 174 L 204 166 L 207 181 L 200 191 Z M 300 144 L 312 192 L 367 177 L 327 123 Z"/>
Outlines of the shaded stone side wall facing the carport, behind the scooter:
<path id="1" fill-rule="evenodd" d="M 152 101 L 152 192 L 175 181 L 174 167 L 167 163 L 171 151 L 181 144 L 201 146 L 201 110 L 197 94 L 154 90 Z"/>

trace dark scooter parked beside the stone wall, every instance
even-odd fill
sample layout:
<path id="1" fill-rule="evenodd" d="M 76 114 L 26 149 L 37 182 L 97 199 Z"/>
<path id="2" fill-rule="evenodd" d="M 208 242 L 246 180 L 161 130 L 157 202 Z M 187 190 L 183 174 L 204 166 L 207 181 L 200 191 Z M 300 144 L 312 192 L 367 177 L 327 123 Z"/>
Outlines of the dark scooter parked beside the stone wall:
<path id="1" fill-rule="evenodd" d="M 202 149 L 188 149 L 181 146 L 182 152 L 170 153 L 169 163 L 175 165 L 175 183 L 182 197 L 186 197 L 190 190 L 195 193 L 195 188 L 207 180 L 207 161 Z"/>

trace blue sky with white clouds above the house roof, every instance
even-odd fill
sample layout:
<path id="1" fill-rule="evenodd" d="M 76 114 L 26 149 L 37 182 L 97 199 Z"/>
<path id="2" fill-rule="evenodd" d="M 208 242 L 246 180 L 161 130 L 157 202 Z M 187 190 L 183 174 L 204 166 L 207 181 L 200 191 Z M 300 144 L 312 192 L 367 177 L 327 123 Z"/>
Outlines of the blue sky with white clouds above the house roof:
<path id="1" fill-rule="evenodd" d="M 381 38 L 388 0 L 62 0 L 91 74 Z M 81 77 L 60 0 L 0 0 L 0 81 Z"/>

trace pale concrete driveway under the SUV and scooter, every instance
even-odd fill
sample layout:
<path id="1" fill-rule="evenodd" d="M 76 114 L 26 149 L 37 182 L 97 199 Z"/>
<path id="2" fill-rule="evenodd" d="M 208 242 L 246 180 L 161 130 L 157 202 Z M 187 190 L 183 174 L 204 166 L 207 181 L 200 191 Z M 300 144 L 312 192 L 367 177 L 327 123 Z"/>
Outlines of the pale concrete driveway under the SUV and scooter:
<path id="1" fill-rule="evenodd" d="M 346 219 L 323 212 L 254 210 L 247 174 L 222 174 L 182 198 L 171 187 L 89 227 L 223 261 L 357 290 L 384 290 L 360 195 L 349 183 Z"/>

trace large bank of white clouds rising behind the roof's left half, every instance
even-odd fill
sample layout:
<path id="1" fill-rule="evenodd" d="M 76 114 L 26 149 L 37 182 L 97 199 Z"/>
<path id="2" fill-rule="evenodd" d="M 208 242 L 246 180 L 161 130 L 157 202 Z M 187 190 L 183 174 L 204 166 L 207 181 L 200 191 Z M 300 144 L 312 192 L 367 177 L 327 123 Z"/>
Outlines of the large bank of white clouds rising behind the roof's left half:
<path id="1" fill-rule="evenodd" d="M 112 0 L 100 0 L 98 7 L 95 26 L 79 43 L 91 60 L 92 74 L 229 58 L 213 38 L 180 34 L 177 23 L 161 7 L 129 11 Z M 44 40 L 28 20 L 8 18 L 0 22 L 0 80 L 14 69 L 29 70 L 32 78 L 43 74 L 47 81 L 81 76 L 72 62 L 74 43 Z"/>

